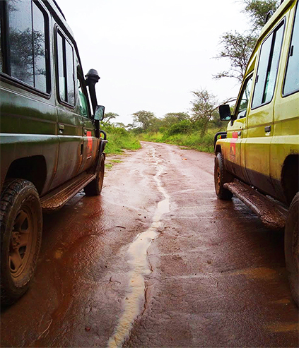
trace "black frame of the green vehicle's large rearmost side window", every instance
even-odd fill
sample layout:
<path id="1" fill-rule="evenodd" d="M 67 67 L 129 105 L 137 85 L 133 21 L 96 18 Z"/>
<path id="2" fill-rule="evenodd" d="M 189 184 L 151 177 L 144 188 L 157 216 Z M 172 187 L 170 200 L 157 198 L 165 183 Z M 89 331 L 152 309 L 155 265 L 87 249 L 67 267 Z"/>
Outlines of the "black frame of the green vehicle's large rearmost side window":
<path id="1" fill-rule="evenodd" d="M 35 88 L 35 86 L 28 85 L 28 83 L 25 83 L 22 80 L 19 80 L 18 78 L 15 78 L 11 76 L 11 52 L 6 49 L 3 50 L 3 70 L 0 71 L 0 80 L 4 80 L 5 82 L 10 83 L 11 85 L 14 85 L 16 87 L 23 88 L 23 90 L 27 90 L 29 92 L 33 92 L 35 95 L 40 95 L 42 97 L 45 97 L 46 99 L 49 99 L 52 95 L 52 78 L 51 78 L 51 61 L 50 61 L 50 40 L 49 40 L 49 13 L 44 7 L 43 4 L 40 4 L 40 1 L 37 0 L 31 0 L 30 6 L 31 11 L 33 11 L 33 2 L 37 6 L 37 8 L 42 12 L 42 15 L 44 16 L 44 23 L 45 23 L 45 66 L 46 66 L 46 89 L 47 92 L 44 92 L 42 90 L 39 90 Z M 8 8 L 7 8 L 7 1 L 0 1 L 0 7 L 1 7 L 1 47 L 8 47 L 9 46 L 9 20 L 8 20 Z M 3 24 L 2 24 L 3 22 Z M 33 21 L 32 21 L 33 25 Z"/>

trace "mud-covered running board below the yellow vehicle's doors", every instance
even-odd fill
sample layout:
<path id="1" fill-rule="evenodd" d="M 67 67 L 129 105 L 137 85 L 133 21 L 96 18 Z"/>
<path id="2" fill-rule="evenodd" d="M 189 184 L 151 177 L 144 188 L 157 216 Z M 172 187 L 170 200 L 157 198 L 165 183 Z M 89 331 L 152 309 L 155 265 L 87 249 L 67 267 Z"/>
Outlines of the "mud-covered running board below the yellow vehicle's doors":
<path id="1" fill-rule="evenodd" d="M 284 228 L 288 210 L 283 208 L 278 202 L 276 203 L 275 200 L 267 198 L 262 193 L 237 179 L 233 182 L 225 183 L 223 186 L 255 212 L 266 227 L 271 229 Z"/>

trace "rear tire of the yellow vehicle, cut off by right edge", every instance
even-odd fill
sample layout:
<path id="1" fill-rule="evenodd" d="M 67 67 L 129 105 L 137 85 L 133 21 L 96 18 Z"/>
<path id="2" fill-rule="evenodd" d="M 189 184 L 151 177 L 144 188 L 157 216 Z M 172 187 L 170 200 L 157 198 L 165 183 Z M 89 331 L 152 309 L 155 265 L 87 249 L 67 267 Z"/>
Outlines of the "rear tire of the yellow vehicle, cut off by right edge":
<path id="1" fill-rule="evenodd" d="M 284 234 L 284 251 L 286 256 L 286 270 L 291 286 L 291 293 L 297 306 L 299 306 L 299 192 L 295 195 L 288 211 Z"/>

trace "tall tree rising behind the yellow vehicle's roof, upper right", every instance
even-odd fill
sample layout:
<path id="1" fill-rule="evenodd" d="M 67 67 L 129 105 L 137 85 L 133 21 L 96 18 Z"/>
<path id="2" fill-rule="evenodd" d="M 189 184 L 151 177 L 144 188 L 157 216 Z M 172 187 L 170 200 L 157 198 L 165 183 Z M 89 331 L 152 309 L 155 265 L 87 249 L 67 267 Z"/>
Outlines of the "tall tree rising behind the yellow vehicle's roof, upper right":
<path id="1" fill-rule="evenodd" d="M 243 33 L 225 32 L 221 35 L 222 49 L 216 58 L 228 59 L 230 69 L 217 73 L 213 78 L 237 78 L 242 81 L 266 15 L 270 10 L 276 11 L 279 7 L 279 1 L 276 0 L 242 0 L 242 4 L 245 6 L 243 12 L 250 18 L 251 28 Z"/>

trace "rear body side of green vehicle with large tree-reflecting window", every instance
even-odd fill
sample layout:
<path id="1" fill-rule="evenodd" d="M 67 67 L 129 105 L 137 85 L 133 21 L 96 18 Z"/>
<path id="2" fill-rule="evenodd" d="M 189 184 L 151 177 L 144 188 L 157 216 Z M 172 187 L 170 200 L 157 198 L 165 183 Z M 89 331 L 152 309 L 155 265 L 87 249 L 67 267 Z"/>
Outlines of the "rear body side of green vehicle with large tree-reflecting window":
<path id="1" fill-rule="evenodd" d="M 29 163 L 31 158 L 28 173 L 36 181 L 46 176 L 44 186 L 37 187 L 43 194 L 54 178 L 59 152 L 51 16 L 42 1 L 28 0 L 0 1 L 0 14 L 1 42 L 6 42 L 0 47 L 1 178 L 13 160 Z"/>

